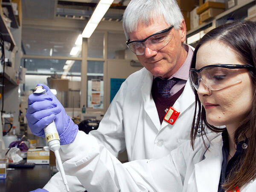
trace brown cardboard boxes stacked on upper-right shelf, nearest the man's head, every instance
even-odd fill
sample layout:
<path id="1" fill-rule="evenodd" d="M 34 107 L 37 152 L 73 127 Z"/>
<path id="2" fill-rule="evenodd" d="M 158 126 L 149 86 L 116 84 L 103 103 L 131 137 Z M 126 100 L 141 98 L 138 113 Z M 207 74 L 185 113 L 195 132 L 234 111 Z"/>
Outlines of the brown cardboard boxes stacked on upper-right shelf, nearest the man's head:
<path id="1" fill-rule="evenodd" d="M 201 24 L 201 22 L 211 20 L 213 17 L 221 14 L 224 11 L 225 3 L 207 1 L 199 6 L 196 10 L 197 14 L 199 15 L 199 24 Z"/>

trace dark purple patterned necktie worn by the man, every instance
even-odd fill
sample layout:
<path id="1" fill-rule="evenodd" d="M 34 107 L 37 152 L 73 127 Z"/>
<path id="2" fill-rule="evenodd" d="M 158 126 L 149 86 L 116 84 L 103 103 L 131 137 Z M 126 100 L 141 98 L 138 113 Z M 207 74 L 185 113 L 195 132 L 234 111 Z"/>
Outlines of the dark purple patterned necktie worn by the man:
<path id="1" fill-rule="evenodd" d="M 179 81 L 177 78 L 172 78 L 169 80 L 156 78 L 157 90 L 161 96 L 164 98 L 169 98 L 171 95 L 170 90 Z"/>

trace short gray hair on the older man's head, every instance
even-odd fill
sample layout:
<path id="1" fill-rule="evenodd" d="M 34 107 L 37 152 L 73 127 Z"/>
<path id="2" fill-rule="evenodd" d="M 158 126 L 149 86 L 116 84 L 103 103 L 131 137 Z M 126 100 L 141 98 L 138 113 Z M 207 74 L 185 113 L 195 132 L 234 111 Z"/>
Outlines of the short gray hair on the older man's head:
<path id="1" fill-rule="evenodd" d="M 123 15 L 126 39 L 129 39 L 129 33 L 137 30 L 139 23 L 148 26 L 152 19 L 162 16 L 167 24 L 180 29 L 183 15 L 176 0 L 131 0 Z"/>

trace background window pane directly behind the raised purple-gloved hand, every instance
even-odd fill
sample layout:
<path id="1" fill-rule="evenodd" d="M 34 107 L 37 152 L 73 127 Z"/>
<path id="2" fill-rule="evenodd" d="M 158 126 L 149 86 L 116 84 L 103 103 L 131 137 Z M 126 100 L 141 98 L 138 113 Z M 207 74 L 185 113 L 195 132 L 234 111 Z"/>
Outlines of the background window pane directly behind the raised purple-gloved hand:
<path id="1" fill-rule="evenodd" d="M 25 58 L 25 92 L 38 83 L 56 90 L 64 108 L 80 108 L 81 61 Z M 31 92 L 31 91 L 30 91 Z"/>

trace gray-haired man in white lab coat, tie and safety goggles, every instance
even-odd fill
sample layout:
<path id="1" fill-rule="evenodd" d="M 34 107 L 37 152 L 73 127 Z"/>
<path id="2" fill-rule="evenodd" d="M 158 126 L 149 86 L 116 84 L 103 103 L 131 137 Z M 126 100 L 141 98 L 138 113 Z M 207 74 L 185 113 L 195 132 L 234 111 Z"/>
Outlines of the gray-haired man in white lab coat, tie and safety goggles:
<path id="1" fill-rule="evenodd" d="M 193 48 L 184 44 L 186 25 L 175 0 L 131 0 L 123 15 L 123 28 L 128 48 L 144 68 L 126 79 L 98 130 L 91 131 L 90 135 L 115 157 L 125 148 L 129 161 L 165 157 L 179 142 L 189 140 L 195 110 L 194 93 L 187 81 Z M 40 127 L 36 125 L 40 118 L 35 118 L 35 111 L 39 111 L 33 106 L 35 101 L 30 97 L 26 114 L 28 122 L 32 119 L 29 125 L 32 132 Z M 173 125 L 163 120 L 166 109 L 171 106 L 180 112 Z M 58 106 L 52 107 L 52 111 L 54 108 Z M 63 112 L 64 108 L 59 111 Z M 59 111 L 47 112 L 57 114 Z M 60 113 L 55 123 L 59 116 Z M 70 143 L 77 133 L 73 130 L 75 134 L 70 137 Z M 68 176 L 67 180 L 71 191 L 85 190 L 76 177 Z M 49 192 L 65 189 L 61 175 L 54 175 L 44 189 Z"/>

